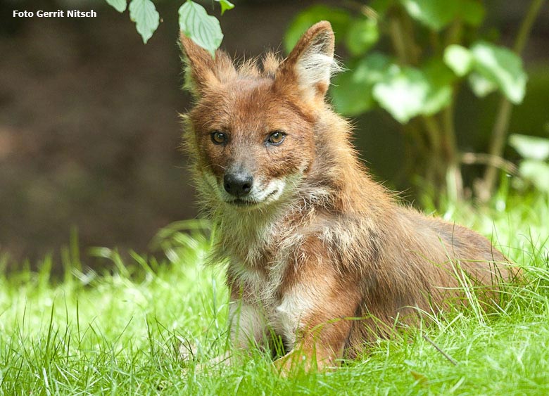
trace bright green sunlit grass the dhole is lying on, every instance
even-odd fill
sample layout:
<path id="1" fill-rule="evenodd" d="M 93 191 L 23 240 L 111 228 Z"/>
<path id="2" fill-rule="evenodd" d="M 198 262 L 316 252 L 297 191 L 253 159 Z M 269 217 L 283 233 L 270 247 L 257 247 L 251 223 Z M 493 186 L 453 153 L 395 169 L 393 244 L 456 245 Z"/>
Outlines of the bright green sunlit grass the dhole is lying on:
<path id="1" fill-rule="evenodd" d="M 449 314 L 398 340 L 380 340 L 337 371 L 293 378 L 279 378 L 260 352 L 237 366 L 179 361 L 181 340 L 198 346 L 203 362 L 227 347 L 227 290 L 222 269 L 203 266 L 209 242 L 197 231 L 201 224 L 185 224 L 190 233 L 177 224 L 162 231 L 165 262 L 135 253 L 122 262 L 115 250 L 98 249 L 94 255 L 112 267 L 96 274 L 72 246 L 61 281 L 49 278 L 48 258 L 39 272 L 2 272 L 0 393 L 547 395 L 549 199 L 508 198 L 496 207 L 460 205 L 446 217 L 493 237 L 526 269 L 528 284 L 511 290 L 498 312 Z"/>

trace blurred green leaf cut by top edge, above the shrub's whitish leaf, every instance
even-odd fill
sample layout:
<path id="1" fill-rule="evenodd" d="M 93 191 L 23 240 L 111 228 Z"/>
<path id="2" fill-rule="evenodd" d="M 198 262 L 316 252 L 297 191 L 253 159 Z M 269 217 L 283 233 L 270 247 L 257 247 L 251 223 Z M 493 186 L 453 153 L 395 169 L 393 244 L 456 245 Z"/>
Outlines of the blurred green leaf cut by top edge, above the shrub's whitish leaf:
<path id="1" fill-rule="evenodd" d="M 457 12 L 458 0 L 400 0 L 408 14 L 432 30 L 441 30 L 450 23 Z"/>

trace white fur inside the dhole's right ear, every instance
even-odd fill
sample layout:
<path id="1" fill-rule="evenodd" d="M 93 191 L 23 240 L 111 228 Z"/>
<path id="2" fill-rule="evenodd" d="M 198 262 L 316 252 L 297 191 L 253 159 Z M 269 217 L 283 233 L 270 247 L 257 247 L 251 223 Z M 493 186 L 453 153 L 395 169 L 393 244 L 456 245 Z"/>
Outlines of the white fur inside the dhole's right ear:
<path id="1" fill-rule="evenodd" d="M 310 96 L 323 96 L 329 87 L 330 77 L 341 70 L 334 60 L 330 40 L 328 34 L 318 34 L 296 63 L 298 84 Z"/>

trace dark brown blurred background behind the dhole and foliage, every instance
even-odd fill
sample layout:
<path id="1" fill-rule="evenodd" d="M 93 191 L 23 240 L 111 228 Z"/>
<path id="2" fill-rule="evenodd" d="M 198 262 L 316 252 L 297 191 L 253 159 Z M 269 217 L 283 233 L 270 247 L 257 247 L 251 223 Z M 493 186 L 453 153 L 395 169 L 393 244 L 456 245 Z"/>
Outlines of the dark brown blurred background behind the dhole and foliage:
<path id="1" fill-rule="evenodd" d="M 127 12 L 104 1 L 0 1 L 0 255 L 9 255 L 10 262 L 57 254 L 71 229 L 84 249 L 146 251 L 160 227 L 196 217 L 179 151 L 178 113 L 189 108 L 176 44 L 181 3 L 156 2 L 163 23 L 144 45 Z M 220 18 L 222 47 L 255 56 L 265 48 L 282 49 L 293 16 L 318 2 L 234 3 Z M 526 4 L 488 2 L 487 25 L 502 32 L 504 44 L 512 42 Z M 14 9 L 70 8 L 93 8 L 98 16 L 12 17 Z M 548 38 L 545 5 L 525 53 L 536 84 L 516 109 L 512 132 L 545 133 Z M 471 94 L 462 95 L 460 145 L 483 151 L 498 98 L 479 106 Z M 398 125 L 381 111 L 355 124 L 362 157 L 377 177 L 398 189 L 409 186 L 395 160 L 403 155 Z"/>

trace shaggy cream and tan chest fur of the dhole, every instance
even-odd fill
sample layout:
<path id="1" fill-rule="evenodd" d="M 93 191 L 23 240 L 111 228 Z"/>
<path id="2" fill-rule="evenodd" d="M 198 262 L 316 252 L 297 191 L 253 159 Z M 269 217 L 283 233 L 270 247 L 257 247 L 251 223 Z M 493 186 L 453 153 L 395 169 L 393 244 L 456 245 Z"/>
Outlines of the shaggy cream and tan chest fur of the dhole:
<path id="1" fill-rule="evenodd" d="M 295 222 L 280 222 L 256 229 L 253 233 L 229 235 L 235 238 L 225 243 L 225 255 L 229 256 L 230 262 L 227 280 L 232 288 L 232 300 L 236 303 L 234 305 L 246 307 L 246 315 L 257 316 L 246 318 L 244 315 L 241 319 L 253 323 L 253 326 L 260 324 L 268 328 L 267 333 L 274 331 L 288 345 L 293 345 L 303 307 L 296 304 L 300 296 L 291 290 L 294 279 L 289 276 L 288 269 L 294 266 L 292 260 L 303 242 L 303 232 Z M 241 243 L 236 243 L 236 238 Z M 248 243 L 243 243 L 244 240 Z"/>

